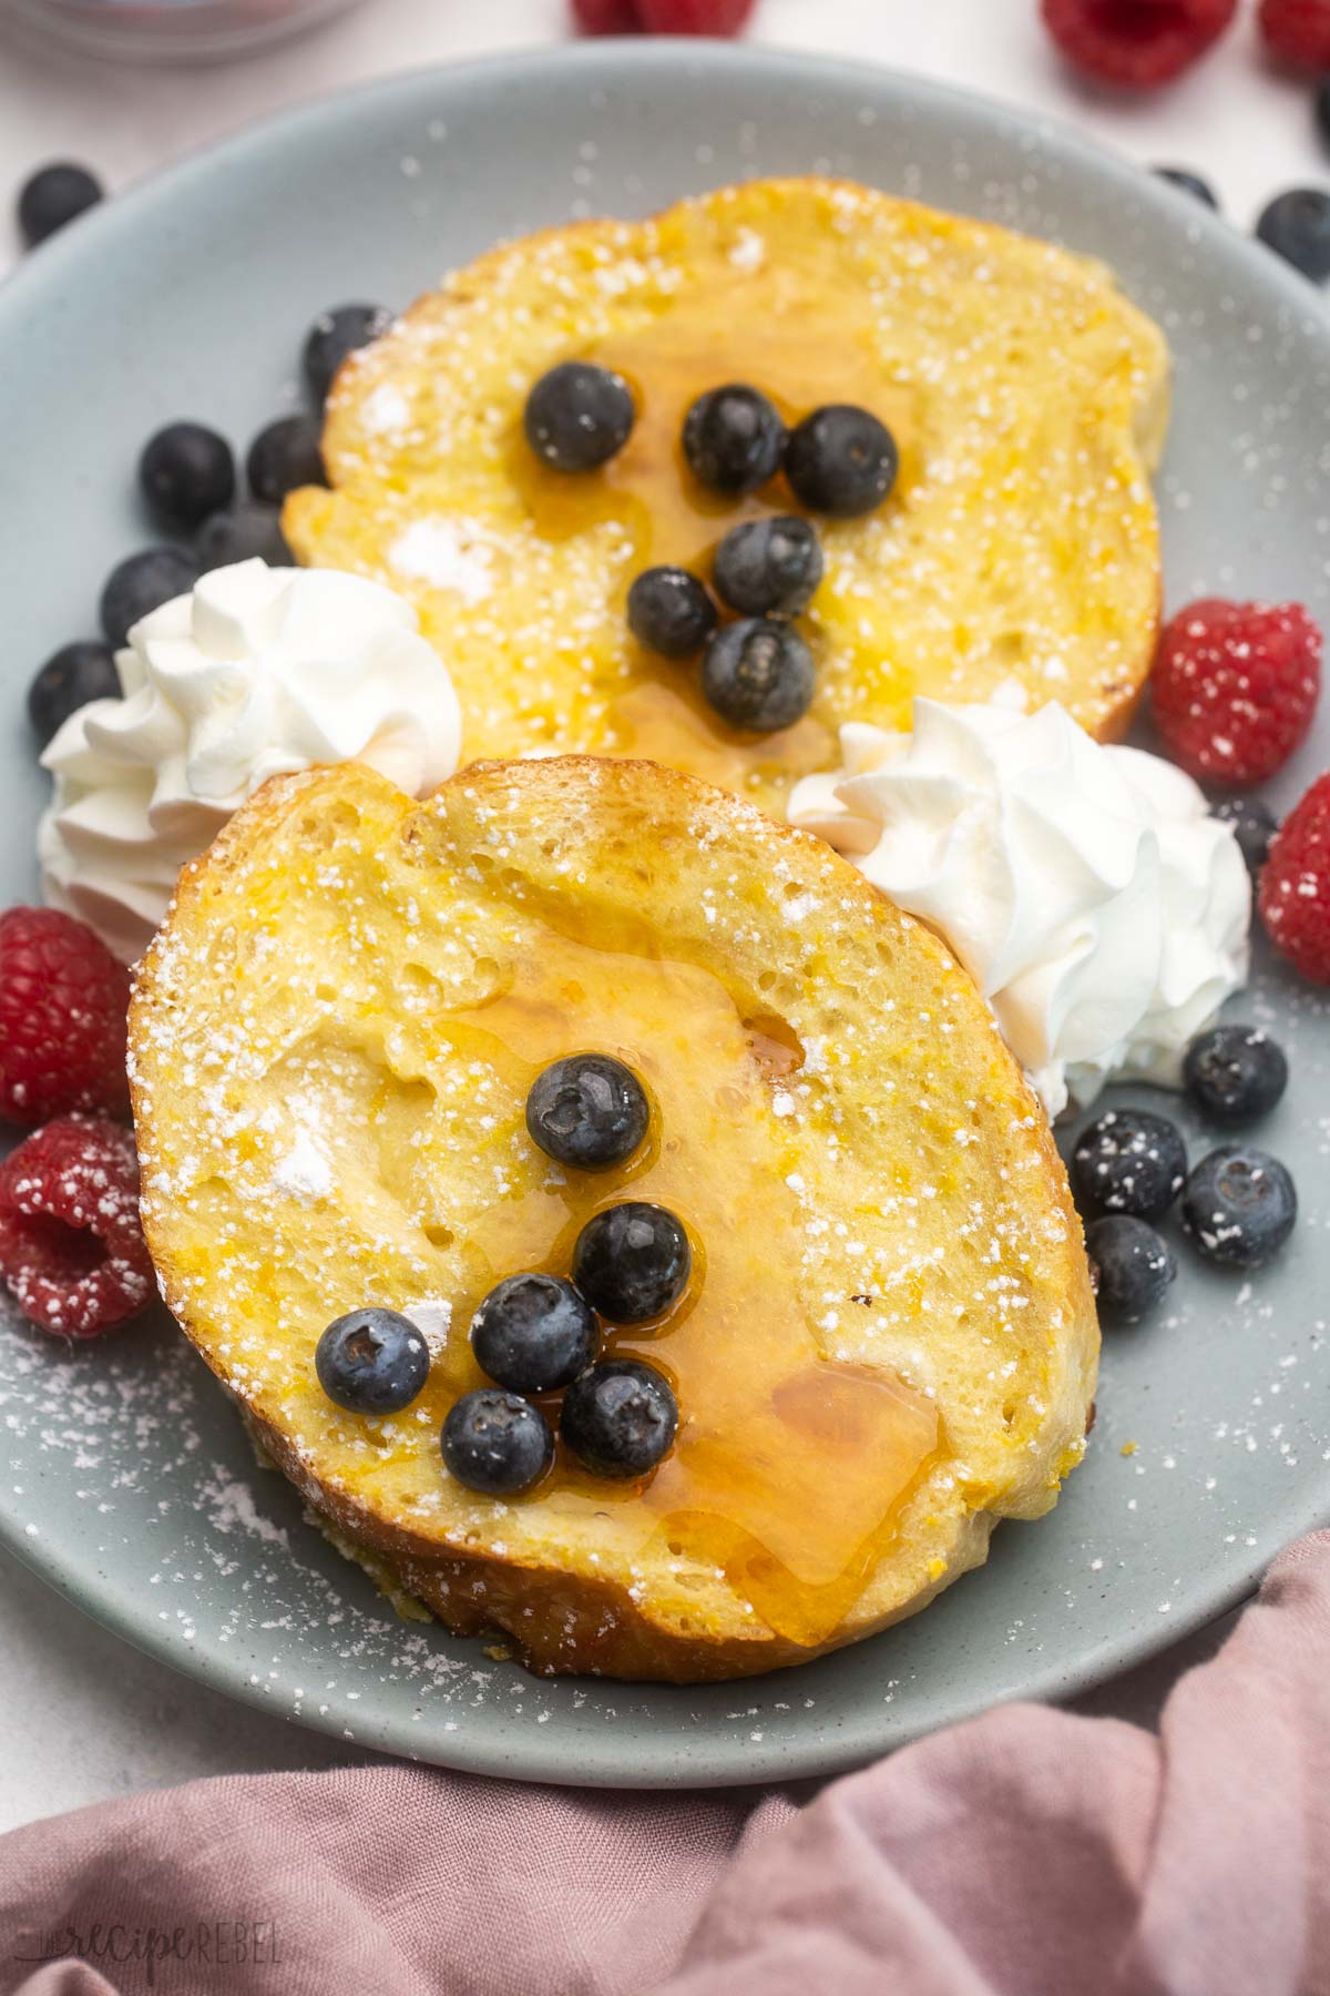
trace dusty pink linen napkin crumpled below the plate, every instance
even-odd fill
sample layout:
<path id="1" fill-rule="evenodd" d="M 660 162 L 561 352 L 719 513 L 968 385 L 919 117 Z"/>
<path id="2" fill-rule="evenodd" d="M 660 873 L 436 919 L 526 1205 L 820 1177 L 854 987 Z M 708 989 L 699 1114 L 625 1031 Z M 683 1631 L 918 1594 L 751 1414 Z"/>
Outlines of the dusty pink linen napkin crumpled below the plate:
<path id="1" fill-rule="evenodd" d="M 44 1940 L 66 1958 L 38 1966 Z M 0 1992 L 150 1988 L 1330 1996 L 1330 1533 L 1276 1561 L 1159 1739 L 1015 1705 L 804 1810 L 389 1764 L 0 1838 Z"/>

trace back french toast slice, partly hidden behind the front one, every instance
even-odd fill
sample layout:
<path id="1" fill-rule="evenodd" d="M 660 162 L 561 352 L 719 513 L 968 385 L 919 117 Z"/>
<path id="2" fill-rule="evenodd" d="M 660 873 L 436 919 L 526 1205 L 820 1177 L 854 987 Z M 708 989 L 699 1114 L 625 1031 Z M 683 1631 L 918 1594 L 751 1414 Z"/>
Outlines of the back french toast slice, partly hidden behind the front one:
<path id="1" fill-rule="evenodd" d="M 616 367 L 638 405 L 596 473 L 550 471 L 522 437 L 528 389 L 570 357 Z M 885 505 L 818 521 L 818 693 L 766 739 L 624 621 L 642 569 L 706 573 L 736 521 L 800 511 L 780 477 L 728 501 L 688 475 L 684 411 L 724 381 L 788 421 L 863 403 L 901 453 Z M 1163 335 L 1101 263 L 845 182 L 750 182 L 500 246 L 421 297 L 341 369 L 331 491 L 293 493 L 283 527 L 299 561 L 415 603 L 471 756 L 650 756 L 780 814 L 841 723 L 907 729 L 915 695 L 1005 687 L 1099 739 L 1127 729 L 1159 621 L 1166 405 Z"/>

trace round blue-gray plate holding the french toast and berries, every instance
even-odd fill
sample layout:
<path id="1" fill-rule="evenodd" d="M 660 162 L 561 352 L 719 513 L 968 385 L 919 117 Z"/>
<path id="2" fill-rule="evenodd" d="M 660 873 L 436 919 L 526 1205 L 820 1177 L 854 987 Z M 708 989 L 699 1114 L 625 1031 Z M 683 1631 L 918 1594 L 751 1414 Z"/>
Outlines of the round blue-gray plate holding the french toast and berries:
<path id="1" fill-rule="evenodd" d="M 640 44 L 409 76 L 175 168 L 0 293 L 0 902 L 32 888 L 42 800 L 22 687 L 94 627 L 100 577 L 150 537 L 132 465 L 158 423 L 203 415 L 247 437 L 295 397 L 297 341 L 321 307 L 405 303 L 497 236 L 808 170 L 1107 257 L 1178 363 L 1161 487 L 1168 601 L 1292 595 L 1326 621 L 1330 337 L 1300 277 L 1184 196 L 1059 126 L 871 68 Z M 1324 748 L 1322 729 L 1278 802 Z M 1238 1601 L 1330 1513 L 1330 1036 L 1324 1004 L 1268 966 L 1242 1014 L 1292 1058 L 1264 1136 L 1304 1198 L 1290 1249 L 1236 1283 L 1178 1248 L 1174 1315 L 1109 1343 L 1091 1457 L 1057 1513 L 1003 1527 L 987 1569 L 839 1657 L 704 1691 L 538 1683 L 399 1623 L 255 1469 L 167 1323 L 74 1353 L 0 1331 L 0 1535 L 132 1643 L 235 1697 L 365 1746 L 534 1780 L 826 1774 L 1001 1699 L 1085 1689 Z"/>

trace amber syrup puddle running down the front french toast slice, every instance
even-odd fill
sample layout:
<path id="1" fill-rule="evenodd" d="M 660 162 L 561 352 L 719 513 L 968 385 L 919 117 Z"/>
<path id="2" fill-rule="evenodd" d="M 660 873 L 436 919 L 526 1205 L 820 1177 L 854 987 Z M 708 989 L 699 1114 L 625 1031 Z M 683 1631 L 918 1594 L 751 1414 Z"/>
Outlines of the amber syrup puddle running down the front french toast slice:
<path id="1" fill-rule="evenodd" d="M 580 1048 L 626 1060 L 652 1096 L 652 1134 L 628 1166 L 542 1166 L 487 1210 L 457 1325 L 502 1275 L 566 1273 L 580 1228 L 620 1198 L 668 1206 L 694 1244 L 676 1307 L 606 1337 L 606 1353 L 648 1359 L 674 1385 L 674 1451 L 644 1483 L 594 1477 L 560 1451 L 532 1497 L 612 1517 L 634 1553 L 654 1543 L 710 1563 L 780 1635 L 824 1641 L 935 1459 L 939 1423 L 893 1375 L 831 1363 L 800 1303 L 804 1234 L 786 1184 L 800 1146 L 770 1104 L 772 1086 L 804 1062 L 798 1036 L 770 1012 L 744 1018 L 696 964 L 554 930 L 526 946 L 491 1000 L 441 1014 L 437 1030 L 459 1056 L 497 1068 L 518 1100 L 542 1066 Z M 447 1367 L 455 1391 L 483 1383 L 457 1337 Z"/>

